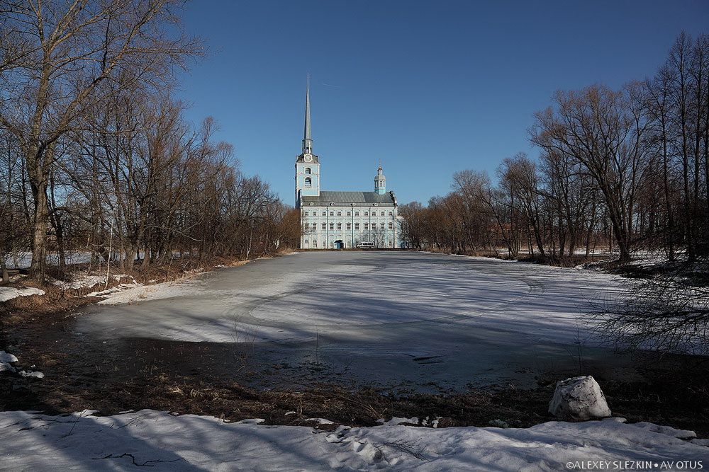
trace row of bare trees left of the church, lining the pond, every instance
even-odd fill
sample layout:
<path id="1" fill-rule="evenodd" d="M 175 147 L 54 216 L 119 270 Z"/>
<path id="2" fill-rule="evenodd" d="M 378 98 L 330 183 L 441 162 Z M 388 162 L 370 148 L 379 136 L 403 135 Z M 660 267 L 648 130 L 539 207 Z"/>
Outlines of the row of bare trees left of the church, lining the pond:
<path id="1" fill-rule="evenodd" d="M 272 253 L 297 218 L 170 88 L 201 54 L 173 0 L 0 0 L 0 263 Z"/>

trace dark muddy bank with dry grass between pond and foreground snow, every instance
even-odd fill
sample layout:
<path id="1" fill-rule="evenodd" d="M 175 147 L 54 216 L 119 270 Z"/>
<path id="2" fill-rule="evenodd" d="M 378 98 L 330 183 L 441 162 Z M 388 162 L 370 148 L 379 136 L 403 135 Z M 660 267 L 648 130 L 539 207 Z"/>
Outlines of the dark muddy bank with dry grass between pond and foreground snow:
<path id="1" fill-rule="evenodd" d="M 554 391 L 550 381 L 554 379 L 553 372 L 538 379 L 536 388 L 515 388 L 509 384 L 471 388 L 450 395 L 393 395 L 376 388 L 300 384 L 299 379 L 294 379 L 293 388 L 255 389 L 220 378 L 209 369 L 195 369 L 194 364 L 175 372 L 157 360 L 150 362 L 159 358 L 150 352 L 155 347 L 138 345 L 130 355 L 117 352 L 106 357 L 105 350 L 67 333 L 67 321 L 72 316 L 75 315 L 54 311 L 4 326 L 0 350 L 9 348 L 20 360 L 33 359 L 32 368 L 48 375 L 44 379 L 1 375 L 0 409 L 69 413 L 86 408 L 111 415 L 151 408 L 227 420 L 264 418 L 272 425 L 309 424 L 308 418 L 327 418 L 343 425 L 375 425 L 379 418 L 393 416 L 440 417 L 440 427 L 484 427 L 500 421 L 510 427 L 529 427 L 554 420 L 547 413 Z M 613 415 L 630 422 L 649 421 L 695 430 L 700 437 L 708 437 L 707 359 L 674 357 L 638 361 L 645 366 L 644 381 L 597 379 Z M 129 368 L 134 367 L 129 364 L 136 363 L 140 369 Z"/>

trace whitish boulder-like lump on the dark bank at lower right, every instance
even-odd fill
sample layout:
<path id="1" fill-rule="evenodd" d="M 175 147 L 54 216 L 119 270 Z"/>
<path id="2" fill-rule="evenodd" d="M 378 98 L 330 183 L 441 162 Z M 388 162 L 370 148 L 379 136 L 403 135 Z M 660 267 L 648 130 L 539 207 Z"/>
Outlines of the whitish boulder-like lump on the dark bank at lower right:
<path id="1" fill-rule="evenodd" d="M 566 420 L 591 420 L 610 416 L 610 408 L 601 386 L 588 375 L 558 381 L 549 413 Z"/>

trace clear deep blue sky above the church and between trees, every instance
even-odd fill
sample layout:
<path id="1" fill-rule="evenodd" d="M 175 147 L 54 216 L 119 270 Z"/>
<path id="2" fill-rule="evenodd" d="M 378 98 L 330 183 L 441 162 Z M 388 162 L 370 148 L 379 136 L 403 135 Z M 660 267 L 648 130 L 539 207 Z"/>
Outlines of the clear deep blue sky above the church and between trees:
<path id="1" fill-rule="evenodd" d="M 322 190 L 427 202 L 466 168 L 494 176 L 557 89 L 618 87 L 664 61 L 709 1 L 193 1 L 210 50 L 179 77 L 188 117 L 211 115 L 242 170 L 293 205 L 306 74 Z"/>

